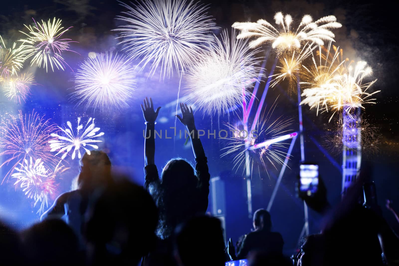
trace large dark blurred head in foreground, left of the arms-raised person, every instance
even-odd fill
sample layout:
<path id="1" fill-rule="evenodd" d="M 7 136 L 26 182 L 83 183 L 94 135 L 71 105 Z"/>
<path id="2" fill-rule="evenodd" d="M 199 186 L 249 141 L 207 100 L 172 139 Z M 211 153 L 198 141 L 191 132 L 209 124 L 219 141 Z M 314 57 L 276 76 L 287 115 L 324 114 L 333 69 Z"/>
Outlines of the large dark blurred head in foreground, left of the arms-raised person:
<path id="1" fill-rule="evenodd" d="M 150 194 L 127 179 L 115 181 L 93 198 L 87 211 L 83 232 L 88 264 L 137 265 L 155 247 L 157 223 Z"/>

